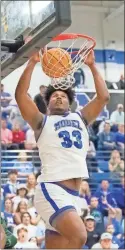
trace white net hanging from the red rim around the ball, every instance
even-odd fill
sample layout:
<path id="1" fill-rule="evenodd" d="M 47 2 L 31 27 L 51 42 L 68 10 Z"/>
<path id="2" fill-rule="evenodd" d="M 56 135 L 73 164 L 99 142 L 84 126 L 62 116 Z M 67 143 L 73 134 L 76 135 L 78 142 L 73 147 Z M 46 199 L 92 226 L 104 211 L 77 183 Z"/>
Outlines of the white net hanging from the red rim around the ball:
<path id="1" fill-rule="evenodd" d="M 65 39 L 69 40 L 69 39 Z M 65 48 L 65 40 L 59 40 L 55 42 L 55 48 Z M 57 70 L 55 71 L 55 66 L 58 64 L 59 61 L 62 59 L 62 53 L 60 53 L 59 61 L 56 62 L 56 64 L 51 65 L 51 73 L 48 71 L 48 75 L 52 76 L 51 77 L 51 85 L 55 89 L 62 89 L 66 90 L 69 87 L 72 87 L 75 84 L 75 78 L 74 78 L 74 73 L 82 67 L 84 64 L 86 57 L 94 47 L 94 41 L 92 39 L 84 38 L 84 37 L 77 37 L 75 39 L 70 39 L 71 45 L 68 47 L 68 49 L 65 49 L 65 54 L 67 52 L 70 55 L 70 60 L 65 65 L 65 68 L 59 68 L 57 67 Z M 76 49 L 79 48 L 79 49 Z M 44 49 L 44 54 L 47 53 L 48 47 L 46 46 Z M 41 55 L 41 63 L 42 63 L 42 54 Z M 46 54 L 47 56 L 47 54 Z M 64 54 L 63 54 L 64 56 Z M 51 59 L 53 55 L 48 58 L 48 63 L 51 64 Z M 59 64 L 58 64 L 59 65 Z M 67 70 L 66 70 L 67 69 Z M 57 75 L 60 75 L 60 77 L 57 77 Z"/>

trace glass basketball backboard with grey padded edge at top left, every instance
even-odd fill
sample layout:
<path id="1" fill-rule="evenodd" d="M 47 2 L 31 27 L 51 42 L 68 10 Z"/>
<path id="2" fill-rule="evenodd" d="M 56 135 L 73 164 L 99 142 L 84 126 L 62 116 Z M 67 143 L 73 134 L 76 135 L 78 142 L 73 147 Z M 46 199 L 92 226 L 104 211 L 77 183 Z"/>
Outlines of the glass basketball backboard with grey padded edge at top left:
<path id="1" fill-rule="evenodd" d="M 2 52 L 2 79 L 70 25 L 70 1 L 1 1 L 1 40 L 25 40 L 16 53 Z"/>

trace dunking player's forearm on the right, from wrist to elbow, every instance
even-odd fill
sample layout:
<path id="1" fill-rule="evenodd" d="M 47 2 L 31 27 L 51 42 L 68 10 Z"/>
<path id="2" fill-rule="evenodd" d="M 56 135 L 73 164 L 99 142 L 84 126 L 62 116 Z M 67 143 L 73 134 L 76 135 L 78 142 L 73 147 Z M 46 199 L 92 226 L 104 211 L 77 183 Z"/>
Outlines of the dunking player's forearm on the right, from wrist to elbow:
<path id="1" fill-rule="evenodd" d="M 103 80 L 95 64 L 90 66 L 90 70 L 94 78 L 97 98 L 100 99 L 101 102 L 107 103 L 110 99 L 110 95 L 105 81 Z"/>

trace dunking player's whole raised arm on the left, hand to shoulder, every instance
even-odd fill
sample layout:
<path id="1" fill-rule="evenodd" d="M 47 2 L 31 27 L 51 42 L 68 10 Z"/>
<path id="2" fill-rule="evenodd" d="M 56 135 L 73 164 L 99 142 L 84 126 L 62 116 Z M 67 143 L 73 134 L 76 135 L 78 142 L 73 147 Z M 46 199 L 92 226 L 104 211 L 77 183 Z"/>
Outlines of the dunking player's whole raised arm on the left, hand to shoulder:
<path id="1" fill-rule="evenodd" d="M 23 118 L 30 124 L 33 130 L 37 130 L 39 124 L 43 120 L 43 114 L 41 114 L 36 104 L 28 96 L 27 91 L 30 86 L 31 76 L 36 63 L 39 62 L 39 54 L 36 53 L 32 56 L 20 77 L 18 82 L 15 99 L 19 106 L 20 112 Z"/>

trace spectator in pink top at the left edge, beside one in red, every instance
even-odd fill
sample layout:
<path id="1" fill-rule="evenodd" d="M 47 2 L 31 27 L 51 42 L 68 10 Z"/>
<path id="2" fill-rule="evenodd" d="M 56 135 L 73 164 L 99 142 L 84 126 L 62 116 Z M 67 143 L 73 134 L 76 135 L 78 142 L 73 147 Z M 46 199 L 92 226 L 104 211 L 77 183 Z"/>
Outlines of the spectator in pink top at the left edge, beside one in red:
<path id="1" fill-rule="evenodd" d="M 1 147 L 2 149 L 17 149 L 18 147 L 13 144 L 12 131 L 7 128 L 5 120 L 1 121 Z"/>

